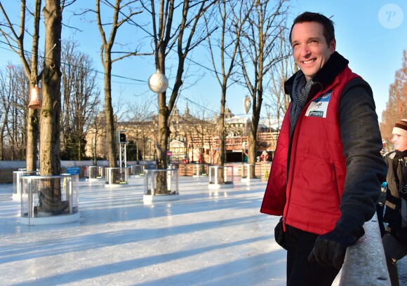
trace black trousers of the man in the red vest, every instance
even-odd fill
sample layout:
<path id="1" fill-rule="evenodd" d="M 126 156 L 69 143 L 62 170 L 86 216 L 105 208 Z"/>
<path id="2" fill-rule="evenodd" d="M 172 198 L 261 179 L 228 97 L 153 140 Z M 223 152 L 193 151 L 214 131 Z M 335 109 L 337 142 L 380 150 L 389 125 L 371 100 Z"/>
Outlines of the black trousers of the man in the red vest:
<path id="1" fill-rule="evenodd" d="M 308 261 L 317 237 L 315 233 L 286 225 L 288 286 L 328 286 L 338 275 L 339 270 L 333 266 Z"/>

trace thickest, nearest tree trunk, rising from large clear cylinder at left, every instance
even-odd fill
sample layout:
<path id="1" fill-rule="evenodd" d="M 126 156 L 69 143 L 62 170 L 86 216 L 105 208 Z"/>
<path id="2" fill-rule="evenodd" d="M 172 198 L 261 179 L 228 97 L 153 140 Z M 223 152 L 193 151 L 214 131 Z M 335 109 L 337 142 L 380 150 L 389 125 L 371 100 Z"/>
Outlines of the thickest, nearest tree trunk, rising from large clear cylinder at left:
<path id="1" fill-rule="evenodd" d="M 41 175 L 60 175 L 60 55 L 62 11 L 60 0 L 46 0 L 43 9 L 45 22 L 45 54 L 42 74 L 43 100 L 41 106 Z M 64 210 L 59 181 L 50 179 L 41 185 L 40 205 L 46 212 Z"/>

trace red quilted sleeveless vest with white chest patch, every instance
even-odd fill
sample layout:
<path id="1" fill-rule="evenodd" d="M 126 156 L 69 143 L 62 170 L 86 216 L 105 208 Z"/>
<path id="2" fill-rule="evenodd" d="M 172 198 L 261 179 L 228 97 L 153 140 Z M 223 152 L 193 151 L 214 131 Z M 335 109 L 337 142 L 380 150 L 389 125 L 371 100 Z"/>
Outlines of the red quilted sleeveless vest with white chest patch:
<path id="1" fill-rule="evenodd" d="M 285 224 L 318 235 L 335 227 L 346 176 L 339 101 L 343 88 L 356 78 L 360 76 L 345 67 L 331 85 L 314 95 L 298 118 L 291 149 L 288 108 L 260 212 L 283 215 Z"/>

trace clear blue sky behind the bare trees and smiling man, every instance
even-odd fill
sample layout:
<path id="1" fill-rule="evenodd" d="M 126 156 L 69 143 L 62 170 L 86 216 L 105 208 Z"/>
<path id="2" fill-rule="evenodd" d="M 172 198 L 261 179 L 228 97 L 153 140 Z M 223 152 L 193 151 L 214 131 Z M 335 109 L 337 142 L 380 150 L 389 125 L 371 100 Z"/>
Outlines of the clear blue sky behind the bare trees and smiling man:
<path id="1" fill-rule="evenodd" d="M 84 2 L 77 2 L 76 6 L 72 8 L 79 11 Z M 6 11 L 10 11 L 9 15 L 12 19 L 18 18 L 19 0 L 1 1 L 1 3 Z M 407 13 L 407 1 L 293 0 L 289 2 L 289 5 L 291 8 L 289 9 L 288 25 L 291 25 L 295 16 L 304 11 L 323 13 L 335 22 L 336 50 L 349 60 L 349 67 L 352 71 L 370 83 L 380 121 L 388 100 L 389 86 L 394 82 L 396 70 L 401 68 L 403 50 L 407 50 L 407 20 L 404 18 L 404 14 Z M 91 7 L 93 8 L 93 6 Z M 0 17 L 3 18 L 2 15 Z M 63 20 L 69 21 L 69 26 L 79 27 L 81 31 L 65 27 L 62 37 L 78 41 L 79 49 L 93 58 L 93 68 L 102 72 L 101 40 L 96 25 L 90 24 L 80 17 L 72 17 L 69 13 L 63 15 Z M 44 31 L 44 27 L 41 29 Z M 119 30 L 118 41 L 131 43 L 135 37 L 133 31 L 128 28 Z M 0 69 L 6 69 L 10 62 L 15 65 L 20 64 L 19 58 L 1 41 L 3 39 L 0 36 Z M 26 41 L 30 44 L 28 37 Z M 148 50 L 148 48 L 148 44 L 142 47 L 144 50 Z M 206 61 L 208 55 L 204 55 L 202 50 L 194 51 L 190 57 L 193 60 L 199 59 L 200 64 L 211 69 L 211 64 Z M 186 102 L 192 111 L 204 109 L 208 111 L 207 114 L 219 111 L 220 86 L 208 69 L 201 69 L 197 72 L 200 76 L 194 77 L 192 81 L 185 81 L 182 96 L 177 102 L 181 114 L 184 112 Z M 112 68 L 113 101 L 152 100 L 156 102 L 156 94 L 152 93 L 147 86 L 148 78 L 154 71 L 152 56 L 132 57 L 115 62 Z M 196 66 L 185 69 L 185 73 L 188 72 L 196 73 Z M 166 74 L 171 87 L 173 84 L 171 75 L 175 74 L 175 67 L 167 65 Z M 102 87 L 102 74 L 98 74 L 98 79 Z M 232 113 L 243 116 L 243 97 L 247 94 L 247 90 L 241 86 L 233 86 L 228 90 L 227 107 L 231 109 Z M 265 100 L 263 104 L 269 104 L 269 102 Z"/>

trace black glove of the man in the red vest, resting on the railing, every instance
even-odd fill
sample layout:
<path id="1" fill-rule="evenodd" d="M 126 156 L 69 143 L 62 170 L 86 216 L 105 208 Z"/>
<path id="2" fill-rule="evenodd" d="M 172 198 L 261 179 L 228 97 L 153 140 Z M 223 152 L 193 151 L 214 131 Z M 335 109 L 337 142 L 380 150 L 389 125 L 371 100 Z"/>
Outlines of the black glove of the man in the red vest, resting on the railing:
<path id="1" fill-rule="evenodd" d="M 363 226 L 356 224 L 352 219 L 340 218 L 335 229 L 316 238 L 308 260 L 340 269 L 345 260 L 347 247 L 354 245 L 363 234 L 365 234 Z"/>

